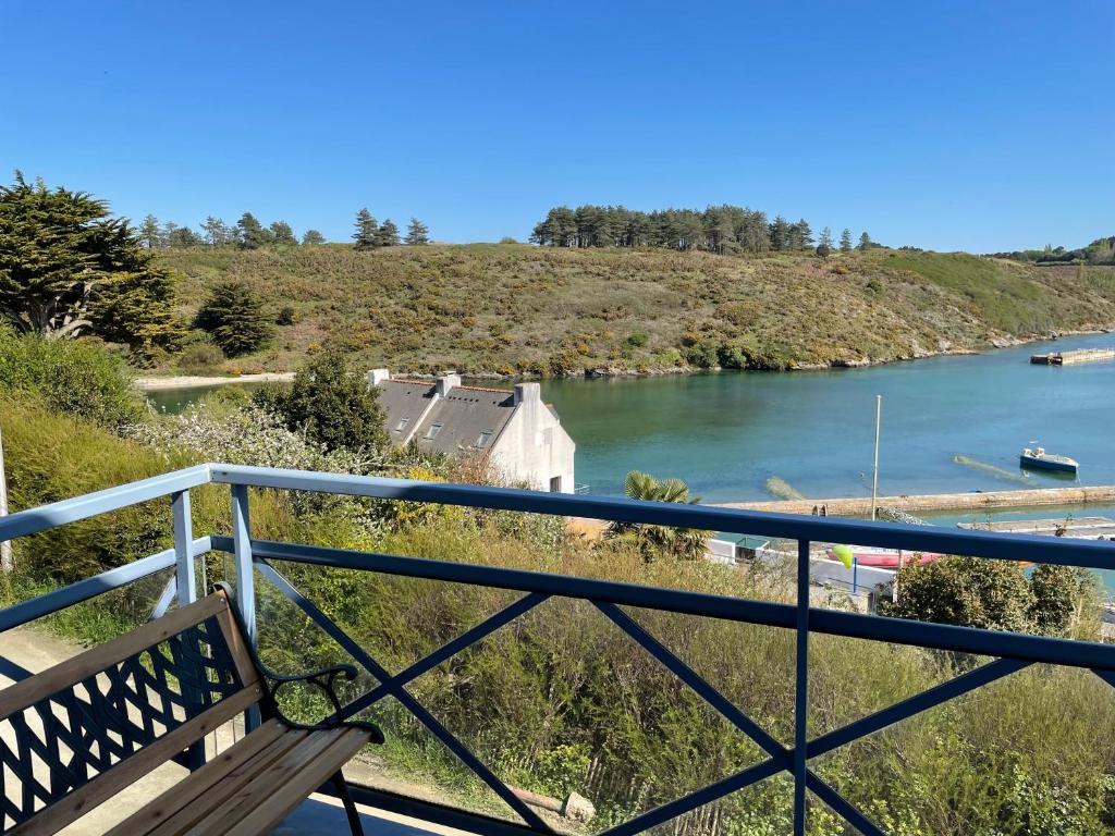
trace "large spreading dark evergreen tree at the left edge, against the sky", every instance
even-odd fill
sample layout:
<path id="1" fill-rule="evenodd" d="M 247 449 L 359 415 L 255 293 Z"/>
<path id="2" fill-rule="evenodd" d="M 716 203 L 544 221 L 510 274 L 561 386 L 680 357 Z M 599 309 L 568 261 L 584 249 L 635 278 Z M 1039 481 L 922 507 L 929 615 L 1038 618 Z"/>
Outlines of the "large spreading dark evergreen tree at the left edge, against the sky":
<path id="1" fill-rule="evenodd" d="M 0 320 L 19 332 L 93 331 L 139 352 L 182 337 L 174 276 L 104 201 L 33 185 L 0 186 Z"/>

